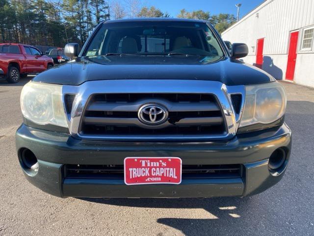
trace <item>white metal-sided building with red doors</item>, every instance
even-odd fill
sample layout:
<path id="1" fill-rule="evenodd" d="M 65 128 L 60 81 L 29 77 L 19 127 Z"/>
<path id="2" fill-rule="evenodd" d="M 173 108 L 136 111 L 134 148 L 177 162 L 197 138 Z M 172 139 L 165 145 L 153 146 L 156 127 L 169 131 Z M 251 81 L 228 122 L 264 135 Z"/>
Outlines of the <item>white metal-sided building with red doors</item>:
<path id="1" fill-rule="evenodd" d="M 265 0 L 222 38 L 247 44 L 243 61 L 276 79 L 314 87 L 314 0 Z"/>

